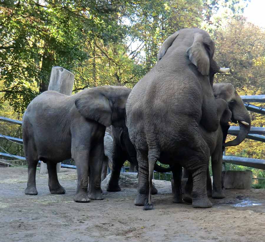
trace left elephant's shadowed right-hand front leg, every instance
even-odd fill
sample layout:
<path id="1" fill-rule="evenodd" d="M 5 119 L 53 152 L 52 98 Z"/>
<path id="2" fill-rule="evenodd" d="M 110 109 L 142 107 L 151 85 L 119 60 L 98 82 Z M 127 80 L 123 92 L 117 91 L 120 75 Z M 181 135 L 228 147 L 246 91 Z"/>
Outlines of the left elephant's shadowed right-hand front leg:
<path id="1" fill-rule="evenodd" d="M 102 171 L 102 161 L 105 159 L 104 155 L 104 144 L 99 143 L 93 148 L 90 154 L 90 164 L 89 164 L 89 198 L 93 200 L 103 200 L 102 190 L 101 190 L 101 171 Z"/>

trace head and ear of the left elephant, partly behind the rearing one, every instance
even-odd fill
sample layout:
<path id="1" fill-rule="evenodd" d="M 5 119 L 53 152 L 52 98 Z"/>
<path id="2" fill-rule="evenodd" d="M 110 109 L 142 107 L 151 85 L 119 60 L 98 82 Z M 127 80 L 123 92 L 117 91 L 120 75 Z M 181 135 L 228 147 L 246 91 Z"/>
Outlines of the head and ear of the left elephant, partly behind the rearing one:
<path id="1" fill-rule="evenodd" d="M 75 100 L 75 106 L 80 114 L 90 120 L 95 120 L 104 126 L 125 125 L 125 104 L 131 92 L 130 88 L 121 86 L 100 86 L 89 88 Z"/>

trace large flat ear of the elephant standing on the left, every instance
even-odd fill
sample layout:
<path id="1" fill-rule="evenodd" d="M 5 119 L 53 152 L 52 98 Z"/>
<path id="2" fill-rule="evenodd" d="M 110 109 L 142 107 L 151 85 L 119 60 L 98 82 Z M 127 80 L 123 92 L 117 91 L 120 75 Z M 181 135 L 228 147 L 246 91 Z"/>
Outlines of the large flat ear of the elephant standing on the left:
<path id="1" fill-rule="evenodd" d="M 104 126 L 111 125 L 112 111 L 109 100 L 99 91 L 84 91 L 74 104 L 80 114 Z"/>

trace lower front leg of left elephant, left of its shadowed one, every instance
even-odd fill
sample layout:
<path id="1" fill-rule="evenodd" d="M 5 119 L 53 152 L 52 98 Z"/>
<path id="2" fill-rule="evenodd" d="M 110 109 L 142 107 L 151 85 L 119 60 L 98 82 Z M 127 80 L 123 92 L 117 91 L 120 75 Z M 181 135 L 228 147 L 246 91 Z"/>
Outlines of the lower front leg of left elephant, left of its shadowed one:
<path id="1" fill-rule="evenodd" d="M 74 154 L 73 154 L 74 153 Z M 89 150 L 72 151 L 72 157 L 77 168 L 77 191 L 74 195 L 75 202 L 90 202 L 88 197 L 88 164 Z"/>

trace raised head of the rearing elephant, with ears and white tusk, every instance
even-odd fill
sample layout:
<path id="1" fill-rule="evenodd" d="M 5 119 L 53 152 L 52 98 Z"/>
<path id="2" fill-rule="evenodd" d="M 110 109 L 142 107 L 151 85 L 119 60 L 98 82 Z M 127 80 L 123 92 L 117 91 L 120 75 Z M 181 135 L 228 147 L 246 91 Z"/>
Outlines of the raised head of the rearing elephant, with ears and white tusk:
<path id="1" fill-rule="evenodd" d="M 157 60 L 160 61 L 166 55 L 168 49 L 185 48 L 185 52 L 191 63 L 193 63 L 198 72 L 203 76 L 209 76 L 211 86 L 213 86 L 213 76 L 215 73 L 229 72 L 229 68 L 221 68 L 214 60 L 214 47 L 215 43 L 210 38 L 209 34 L 201 29 L 182 29 L 170 35 L 161 46 Z M 183 47 L 181 47 L 183 48 Z"/>

